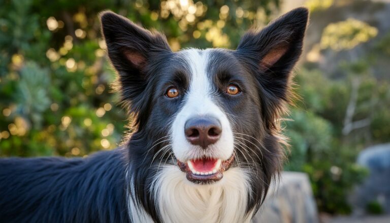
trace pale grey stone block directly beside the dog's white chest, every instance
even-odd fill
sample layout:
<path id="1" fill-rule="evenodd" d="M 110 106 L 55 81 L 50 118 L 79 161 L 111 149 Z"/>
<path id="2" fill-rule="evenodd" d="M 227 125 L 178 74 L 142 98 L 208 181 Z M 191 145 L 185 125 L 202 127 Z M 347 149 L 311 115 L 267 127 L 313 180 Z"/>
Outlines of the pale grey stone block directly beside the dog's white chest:
<path id="1" fill-rule="evenodd" d="M 283 172 L 278 187 L 271 186 L 253 223 L 316 223 L 317 207 L 305 173 Z"/>

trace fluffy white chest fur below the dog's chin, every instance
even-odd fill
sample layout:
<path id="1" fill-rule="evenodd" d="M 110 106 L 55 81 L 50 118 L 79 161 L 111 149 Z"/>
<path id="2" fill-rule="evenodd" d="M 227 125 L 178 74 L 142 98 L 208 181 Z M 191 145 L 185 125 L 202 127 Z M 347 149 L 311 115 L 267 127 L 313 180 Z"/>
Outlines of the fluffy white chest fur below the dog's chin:
<path id="1" fill-rule="evenodd" d="M 196 185 L 177 167 L 166 167 L 152 186 L 159 215 L 164 222 L 247 222 L 246 176 L 232 168 L 220 182 Z"/>

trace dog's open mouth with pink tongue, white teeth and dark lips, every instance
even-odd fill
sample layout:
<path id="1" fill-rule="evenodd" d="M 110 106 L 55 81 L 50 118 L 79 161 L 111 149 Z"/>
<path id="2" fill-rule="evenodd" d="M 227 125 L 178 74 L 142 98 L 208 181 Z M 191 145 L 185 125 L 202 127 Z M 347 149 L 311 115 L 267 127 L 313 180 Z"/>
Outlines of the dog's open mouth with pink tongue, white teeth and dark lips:
<path id="1" fill-rule="evenodd" d="M 189 160 L 187 163 L 177 161 L 180 170 L 187 174 L 187 179 L 193 183 L 212 183 L 222 179 L 223 172 L 232 166 L 234 155 L 228 160 L 220 158 L 201 158 Z"/>

